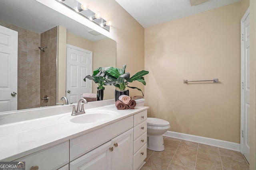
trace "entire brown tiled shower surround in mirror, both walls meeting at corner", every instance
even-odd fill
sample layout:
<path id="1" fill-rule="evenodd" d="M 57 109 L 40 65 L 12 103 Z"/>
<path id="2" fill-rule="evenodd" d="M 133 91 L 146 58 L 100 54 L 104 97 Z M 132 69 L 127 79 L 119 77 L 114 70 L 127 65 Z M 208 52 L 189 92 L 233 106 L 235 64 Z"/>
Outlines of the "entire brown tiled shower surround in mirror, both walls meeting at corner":
<path id="1" fill-rule="evenodd" d="M 57 27 L 40 35 L 4 21 L 0 25 L 18 31 L 18 109 L 56 105 Z M 47 103 L 41 100 L 46 95 Z"/>

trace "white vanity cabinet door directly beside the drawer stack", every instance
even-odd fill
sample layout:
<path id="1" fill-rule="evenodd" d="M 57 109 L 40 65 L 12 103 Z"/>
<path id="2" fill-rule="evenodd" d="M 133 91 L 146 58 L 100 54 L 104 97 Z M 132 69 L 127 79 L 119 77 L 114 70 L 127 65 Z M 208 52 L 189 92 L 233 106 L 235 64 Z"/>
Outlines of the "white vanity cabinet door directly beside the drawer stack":
<path id="1" fill-rule="evenodd" d="M 132 170 L 133 129 L 115 137 L 112 141 L 112 170 Z"/>

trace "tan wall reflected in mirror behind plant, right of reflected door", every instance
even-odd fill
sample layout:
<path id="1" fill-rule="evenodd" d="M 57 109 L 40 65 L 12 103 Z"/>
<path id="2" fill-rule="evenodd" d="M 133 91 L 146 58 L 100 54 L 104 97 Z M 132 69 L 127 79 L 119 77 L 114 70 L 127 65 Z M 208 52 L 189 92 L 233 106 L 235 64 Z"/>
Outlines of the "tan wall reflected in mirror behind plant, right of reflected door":
<path id="1" fill-rule="evenodd" d="M 92 68 L 116 66 L 116 41 L 105 38 L 92 42 Z M 92 92 L 97 93 L 98 85 L 92 83 Z M 114 99 L 114 86 L 105 86 L 103 100 Z"/>

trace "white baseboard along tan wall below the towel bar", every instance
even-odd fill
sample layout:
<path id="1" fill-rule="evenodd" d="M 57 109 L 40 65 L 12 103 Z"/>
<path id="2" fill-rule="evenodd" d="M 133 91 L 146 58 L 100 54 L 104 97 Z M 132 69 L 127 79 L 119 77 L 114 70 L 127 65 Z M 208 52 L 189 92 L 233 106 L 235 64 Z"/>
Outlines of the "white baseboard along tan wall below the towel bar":
<path id="1" fill-rule="evenodd" d="M 201 144 L 224 148 L 224 149 L 229 149 L 229 150 L 235 150 L 235 151 L 240 152 L 240 144 L 239 143 L 233 143 L 233 142 L 229 142 L 229 141 L 222 141 L 222 140 L 218 140 L 218 139 L 212 139 L 212 138 L 208 138 L 208 137 L 200 137 L 200 136 L 196 136 L 196 135 L 189 135 L 189 134 L 185 134 L 185 133 L 178 133 L 178 132 L 172 132 L 172 131 L 167 131 L 166 133 L 164 133 L 163 136 L 172 137 L 172 138 L 181 139 L 181 140 L 190 141 L 190 142 L 201 143 Z"/>

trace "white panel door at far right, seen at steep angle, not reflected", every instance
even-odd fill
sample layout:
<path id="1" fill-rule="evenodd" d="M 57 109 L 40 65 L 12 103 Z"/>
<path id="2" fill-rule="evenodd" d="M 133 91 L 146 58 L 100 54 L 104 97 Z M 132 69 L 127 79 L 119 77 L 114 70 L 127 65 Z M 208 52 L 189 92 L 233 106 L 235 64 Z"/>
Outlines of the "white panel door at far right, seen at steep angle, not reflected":
<path id="1" fill-rule="evenodd" d="M 240 150 L 250 160 L 250 18 L 249 11 L 241 20 L 241 146 Z"/>

